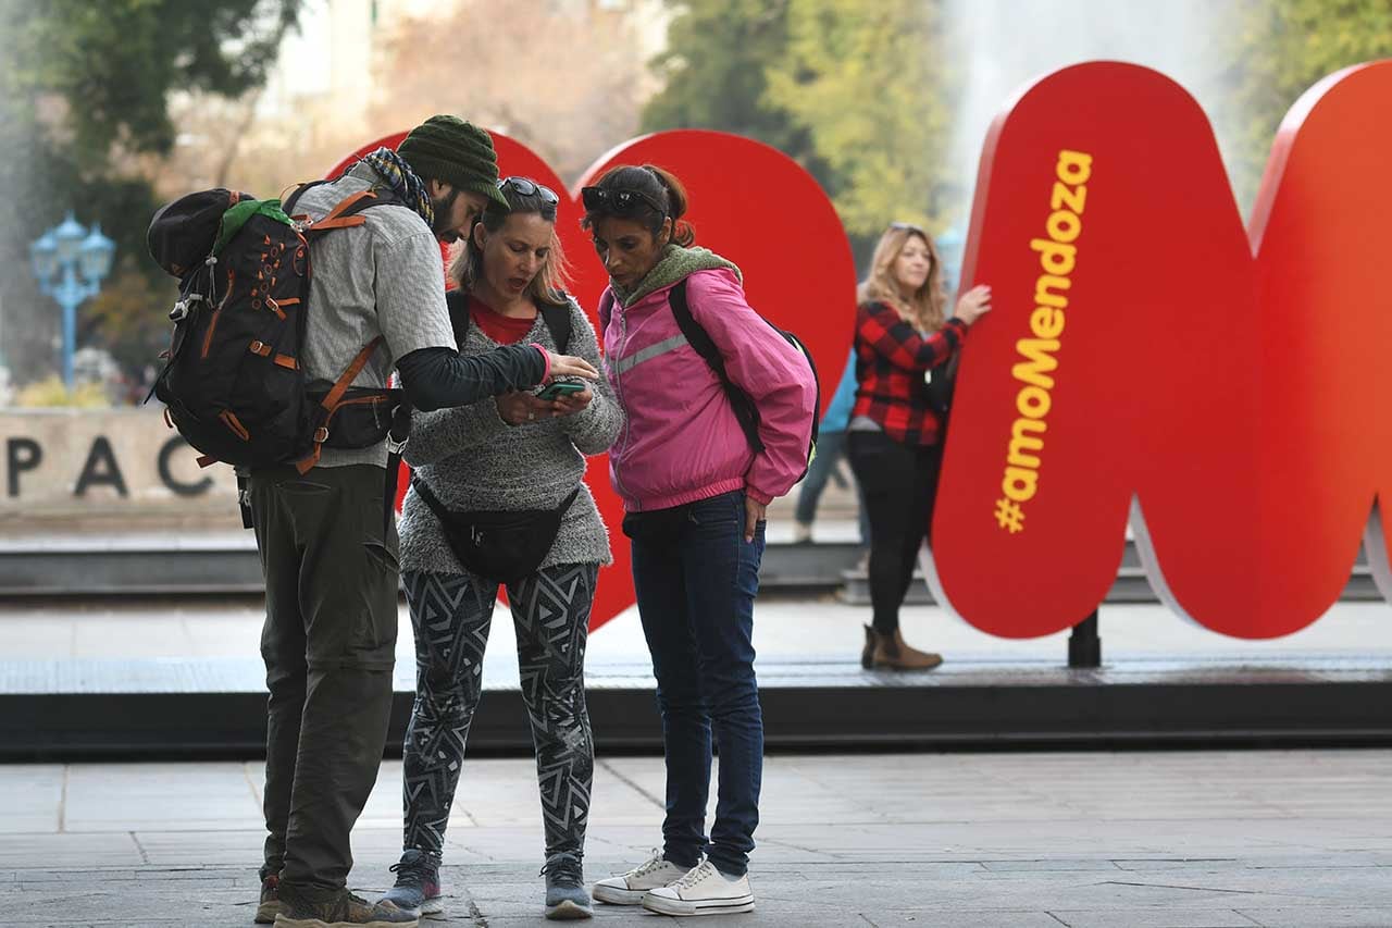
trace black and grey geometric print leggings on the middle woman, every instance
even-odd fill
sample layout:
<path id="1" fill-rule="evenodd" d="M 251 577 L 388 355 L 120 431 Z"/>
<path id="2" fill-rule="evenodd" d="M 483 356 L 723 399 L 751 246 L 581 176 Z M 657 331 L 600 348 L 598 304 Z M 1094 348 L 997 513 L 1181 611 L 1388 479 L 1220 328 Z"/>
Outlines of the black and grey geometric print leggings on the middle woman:
<path id="1" fill-rule="evenodd" d="M 585 850 L 594 741 L 585 709 L 585 642 L 599 564 L 543 567 L 508 585 L 522 699 L 532 720 L 546 856 Z M 473 574 L 405 571 L 416 638 L 416 699 L 406 727 L 404 849 L 440 860 L 483 687 L 498 587 Z"/>

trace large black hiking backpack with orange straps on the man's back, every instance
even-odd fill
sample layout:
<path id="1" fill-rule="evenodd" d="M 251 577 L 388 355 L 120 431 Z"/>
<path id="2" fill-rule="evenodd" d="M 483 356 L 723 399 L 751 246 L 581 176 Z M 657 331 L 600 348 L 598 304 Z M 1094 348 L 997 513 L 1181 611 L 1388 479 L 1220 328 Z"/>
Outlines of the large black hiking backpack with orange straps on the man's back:
<path id="1" fill-rule="evenodd" d="M 305 472 L 324 446 L 369 447 L 388 433 L 394 484 L 409 428 L 400 390 L 351 389 L 380 337 L 363 346 L 329 390 L 308 389 L 301 353 L 309 326 L 309 242 L 362 226 L 365 209 L 397 202 L 367 190 L 323 219 L 291 219 L 301 194 L 322 183 L 299 187 L 284 210 L 276 199 L 199 191 L 163 206 L 150 222 L 150 255 L 180 279 L 170 312 L 174 332 L 150 394 L 202 453 L 199 464 L 231 464 L 239 484 L 251 468 L 294 464 Z M 245 517 L 245 496 L 242 503 Z"/>

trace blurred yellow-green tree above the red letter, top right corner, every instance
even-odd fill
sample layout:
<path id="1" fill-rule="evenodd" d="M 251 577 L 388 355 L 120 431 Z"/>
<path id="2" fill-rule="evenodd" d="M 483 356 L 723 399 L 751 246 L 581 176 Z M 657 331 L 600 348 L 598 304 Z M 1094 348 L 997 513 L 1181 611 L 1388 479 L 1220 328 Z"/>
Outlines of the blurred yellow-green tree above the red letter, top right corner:
<path id="1" fill-rule="evenodd" d="M 1392 57 L 1388 0 L 1242 0 L 1231 10 L 1232 92 L 1218 120 L 1232 125 L 1228 160 L 1249 208 L 1286 110 L 1327 74 Z"/>

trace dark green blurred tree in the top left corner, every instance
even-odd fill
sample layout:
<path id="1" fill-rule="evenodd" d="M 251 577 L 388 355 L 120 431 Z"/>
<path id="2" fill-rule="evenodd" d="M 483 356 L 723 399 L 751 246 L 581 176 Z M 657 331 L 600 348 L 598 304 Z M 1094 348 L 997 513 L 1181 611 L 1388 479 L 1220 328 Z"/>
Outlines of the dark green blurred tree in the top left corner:
<path id="1" fill-rule="evenodd" d="M 116 240 L 113 276 L 145 276 L 152 297 L 139 339 L 166 327 L 156 308 L 170 284 L 145 255 L 157 203 L 141 156 L 174 145 L 171 91 L 238 95 L 264 81 L 299 6 L 0 0 L 0 266 L 10 269 L 0 277 L 0 350 L 18 380 L 54 366 L 58 312 L 28 273 L 28 244 L 68 209 Z"/>

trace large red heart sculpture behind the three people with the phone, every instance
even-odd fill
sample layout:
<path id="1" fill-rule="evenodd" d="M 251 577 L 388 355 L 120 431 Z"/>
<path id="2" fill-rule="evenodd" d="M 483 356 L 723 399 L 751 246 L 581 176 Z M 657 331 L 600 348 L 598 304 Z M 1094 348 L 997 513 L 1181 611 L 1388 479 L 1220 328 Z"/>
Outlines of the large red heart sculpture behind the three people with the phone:
<path id="1" fill-rule="evenodd" d="M 841 376 L 855 329 L 856 272 L 851 244 L 831 201 L 817 181 L 782 152 L 739 135 L 679 130 L 625 142 L 596 162 L 571 188 L 532 149 L 493 132 L 504 176 L 521 174 L 569 190 L 557 233 L 571 259 L 575 294 L 590 322 L 608 276 L 580 229 L 580 187 L 615 164 L 658 164 L 677 174 L 690 198 L 686 219 L 696 244 L 739 265 L 752 307 L 774 325 L 798 333 L 817 362 L 823 411 Z M 388 135 L 340 162 L 329 177 L 380 145 L 395 148 L 405 132 Z M 600 339 L 603 341 L 603 336 Z M 610 528 L 614 566 L 600 574 L 590 628 L 633 605 L 628 539 L 619 532 L 624 506 L 608 479 L 608 456 L 590 460 L 590 492 Z M 405 481 L 402 481 L 405 488 Z M 398 500 L 400 504 L 400 500 Z"/>

